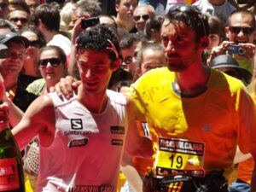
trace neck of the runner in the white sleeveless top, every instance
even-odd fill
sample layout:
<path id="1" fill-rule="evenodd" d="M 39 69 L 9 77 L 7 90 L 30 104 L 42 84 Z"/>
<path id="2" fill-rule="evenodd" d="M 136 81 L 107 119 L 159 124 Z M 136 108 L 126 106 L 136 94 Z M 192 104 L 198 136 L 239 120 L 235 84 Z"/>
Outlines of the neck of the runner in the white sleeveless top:
<path id="1" fill-rule="evenodd" d="M 83 85 L 79 86 L 77 100 L 84 105 L 91 113 L 102 113 L 108 103 L 107 90 L 102 92 L 89 92 L 84 90 Z"/>

